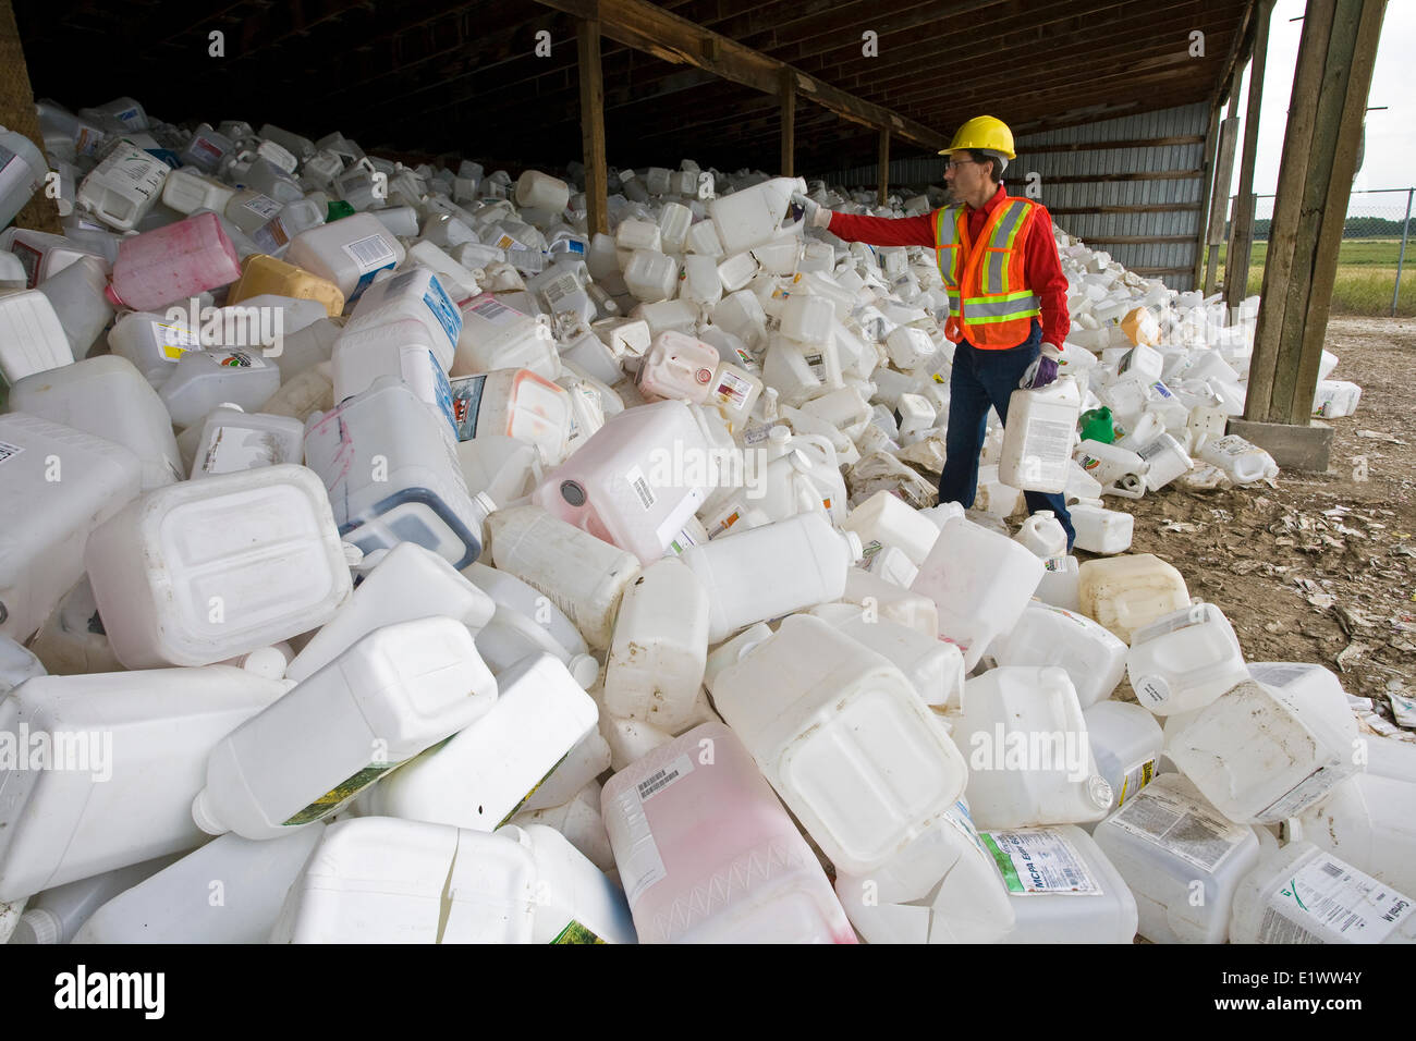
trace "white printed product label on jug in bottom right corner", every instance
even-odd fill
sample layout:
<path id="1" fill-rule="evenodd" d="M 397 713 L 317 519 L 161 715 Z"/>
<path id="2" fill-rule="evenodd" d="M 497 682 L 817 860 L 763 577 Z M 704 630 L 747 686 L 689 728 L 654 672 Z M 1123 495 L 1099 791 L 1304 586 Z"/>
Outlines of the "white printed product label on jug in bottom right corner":
<path id="1" fill-rule="evenodd" d="M 1410 898 L 1321 854 L 1269 895 L 1259 942 L 1381 943 L 1410 916 Z"/>

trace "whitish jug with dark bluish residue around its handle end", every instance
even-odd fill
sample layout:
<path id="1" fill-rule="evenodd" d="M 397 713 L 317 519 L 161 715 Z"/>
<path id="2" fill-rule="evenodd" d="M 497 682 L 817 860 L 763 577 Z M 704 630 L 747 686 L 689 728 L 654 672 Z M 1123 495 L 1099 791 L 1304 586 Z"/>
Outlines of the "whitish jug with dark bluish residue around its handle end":
<path id="1" fill-rule="evenodd" d="M 312 416 L 304 459 L 324 482 L 340 535 L 365 554 L 418 542 L 456 568 L 481 554 L 481 521 L 494 507 L 467 493 L 446 419 L 401 380 L 379 377 Z"/>

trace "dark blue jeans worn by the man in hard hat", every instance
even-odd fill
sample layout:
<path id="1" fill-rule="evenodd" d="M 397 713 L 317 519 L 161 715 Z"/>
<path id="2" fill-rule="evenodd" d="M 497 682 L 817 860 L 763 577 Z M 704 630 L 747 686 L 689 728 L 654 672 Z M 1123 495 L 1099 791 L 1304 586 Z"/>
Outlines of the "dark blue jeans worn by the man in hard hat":
<path id="1" fill-rule="evenodd" d="M 944 472 L 939 474 L 939 501 L 973 506 L 978 491 L 978 453 L 988 429 L 988 406 L 1008 422 L 1008 398 L 1018 389 L 1018 381 L 1028 365 L 1042 353 L 1042 326 L 1032 323 L 1032 334 L 1017 347 L 984 351 L 967 340 L 954 350 L 954 367 L 949 377 L 949 426 L 944 433 Z M 1066 548 L 1072 551 L 1076 531 L 1066 499 L 1061 494 L 1024 491 L 1028 513 L 1051 510 L 1066 531 Z"/>

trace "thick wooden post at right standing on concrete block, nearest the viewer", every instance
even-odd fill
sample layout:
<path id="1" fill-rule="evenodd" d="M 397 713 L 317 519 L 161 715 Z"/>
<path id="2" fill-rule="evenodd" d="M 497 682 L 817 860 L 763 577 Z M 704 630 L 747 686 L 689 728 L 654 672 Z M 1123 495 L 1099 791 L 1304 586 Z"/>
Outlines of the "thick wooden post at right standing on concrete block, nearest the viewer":
<path id="1" fill-rule="evenodd" d="M 1310 422 L 1386 0 L 1308 0 L 1245 419 Z"/>

